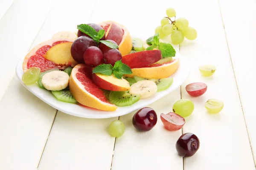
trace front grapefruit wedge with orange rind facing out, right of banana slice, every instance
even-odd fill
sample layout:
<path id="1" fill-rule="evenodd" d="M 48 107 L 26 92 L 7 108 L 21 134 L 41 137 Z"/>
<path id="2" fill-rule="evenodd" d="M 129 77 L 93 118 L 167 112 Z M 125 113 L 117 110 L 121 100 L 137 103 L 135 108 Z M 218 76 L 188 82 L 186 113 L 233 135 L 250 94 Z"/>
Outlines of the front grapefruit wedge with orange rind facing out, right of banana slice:
<path id="1" fill-rule="evenodd" d="M 91 68 L 85 64 L 76 65 L 70 75 L 70 93 L 81 105 L 102 111 L 115 111 L 116 105 L 108 102 L 104 92 L 94 84 L 91 76 Z"/>

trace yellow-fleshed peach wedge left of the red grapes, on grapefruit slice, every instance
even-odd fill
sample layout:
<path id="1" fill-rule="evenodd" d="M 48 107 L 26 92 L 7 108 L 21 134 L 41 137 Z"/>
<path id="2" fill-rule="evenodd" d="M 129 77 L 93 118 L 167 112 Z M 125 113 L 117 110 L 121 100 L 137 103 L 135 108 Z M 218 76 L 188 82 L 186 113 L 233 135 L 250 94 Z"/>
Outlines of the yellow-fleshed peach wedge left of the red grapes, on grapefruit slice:
<path id="1" fill-rule="evenodd" d="M 78 63 L 73 59 L 70 53 L 73 42 L 62 42 L 54 45 L 45 53 L 45 58 L 58 65 L 70 65 L 74 67 Z"/>

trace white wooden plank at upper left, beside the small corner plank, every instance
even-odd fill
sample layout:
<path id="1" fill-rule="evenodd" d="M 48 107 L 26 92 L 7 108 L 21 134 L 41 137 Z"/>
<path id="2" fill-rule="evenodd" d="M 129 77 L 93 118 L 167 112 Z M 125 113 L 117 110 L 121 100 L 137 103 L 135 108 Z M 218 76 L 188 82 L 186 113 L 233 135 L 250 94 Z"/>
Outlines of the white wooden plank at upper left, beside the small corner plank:
<path id="1" fill-rule="evenodd" d="M 0 100 L 15 75 L 18 60 L 28 52 L 51 6 L 51 0 L 16 0 L 0 20 L 0 62 L 6 63 L 2 70 L 8 70 L 1 75 Z"/>

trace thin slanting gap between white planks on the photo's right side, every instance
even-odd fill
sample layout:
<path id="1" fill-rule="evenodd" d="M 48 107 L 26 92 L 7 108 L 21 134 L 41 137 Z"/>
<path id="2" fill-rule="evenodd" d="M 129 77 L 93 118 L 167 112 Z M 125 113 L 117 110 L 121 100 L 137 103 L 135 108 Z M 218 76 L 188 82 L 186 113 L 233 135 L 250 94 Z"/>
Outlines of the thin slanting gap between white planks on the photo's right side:
<path id="1" fill-rule="evenodd" d="M 235 69 L 234 69 L 234 66 L 233 66 L 233 61 L 232 61 L 232 57 L 231 57 L 231 54 L 230 54 L 230 48 L 229 48 L 229 44 L 228 44 L 228 41 L 227 41 L 227 33 L 226 33 L 225 25 L 224 25 L 224 20 L 223 20 L 223 17 L 222 17 L 220 0 L 218 0 L 218 7 L 219 7 L 220 14 L 221 14 L 221 21 L 222 21 L 223 28 L 224 28 L 224 33 L 225 33 L 228 53 L 229 53 L 229 57 L 230 57 L 230 62 L 231 62 L 231 65 L 232 65 L 233 74 L 234 74 L 235 81 L 236 81 L 236 88 L 237 88 L 237 92 L 238 92 L 238 96 L 239 96 L 239 100 L 240 100 L 240 105 L 241 105 L 241 109 L 242 109 L 242 113 L 243 113 L 243 117 L 244 117 L 244 123 L 245 123 L 246 131 L 247 131 L 247 136 L 248 136 L 249 143 L 250 143 L 251 153 L 252 153 L 252 156 L 253 156 L 254 167 L 256 168 L 256 162 L 255 162 L 255 159 L 254 159 L 253 148 L 252 148 L 252 144 L 251 144 L 251 141 L 250 141 L 250 135 L 249 135 L 249 132 L 248 132 L 248 128 L 247 128 L 247 125 L 246 125 L 246 120 L 245 120 L 245 116 L 244 116 L 244 109 L 243 109 L 243 105 L 242 105 L 242 102 L 241 102 L 241 96 L 240 96 L 239 88 L 238 88 L 238 85 L 237 85 Z M 181 92 L 180 92 L 180 94 L 181 94 Z"/>

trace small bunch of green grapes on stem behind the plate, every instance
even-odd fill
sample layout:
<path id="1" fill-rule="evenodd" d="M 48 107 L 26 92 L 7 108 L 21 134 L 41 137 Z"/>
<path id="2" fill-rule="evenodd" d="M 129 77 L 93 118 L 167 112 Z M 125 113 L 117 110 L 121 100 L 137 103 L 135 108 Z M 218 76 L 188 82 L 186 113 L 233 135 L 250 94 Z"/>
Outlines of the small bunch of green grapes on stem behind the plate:
<path id="1" fill-rule="evenodd" d="M 161 25 L 157 26 L 155 33 L 158 33 L 160 38 L 171 34 L 173 44 L 180 44 L 183 42 L 184 37 L 188 40 L 195 40 L 197 31 L 195 28 L 189 26 L 189 21 L 186 18 L 178 18 L 176 20 L 176 11 L 174 8 L 167 8 L 166 14 L 168 17 L 163 17 Z M 175 17 L 172 21 L 171 18 Z"/>

